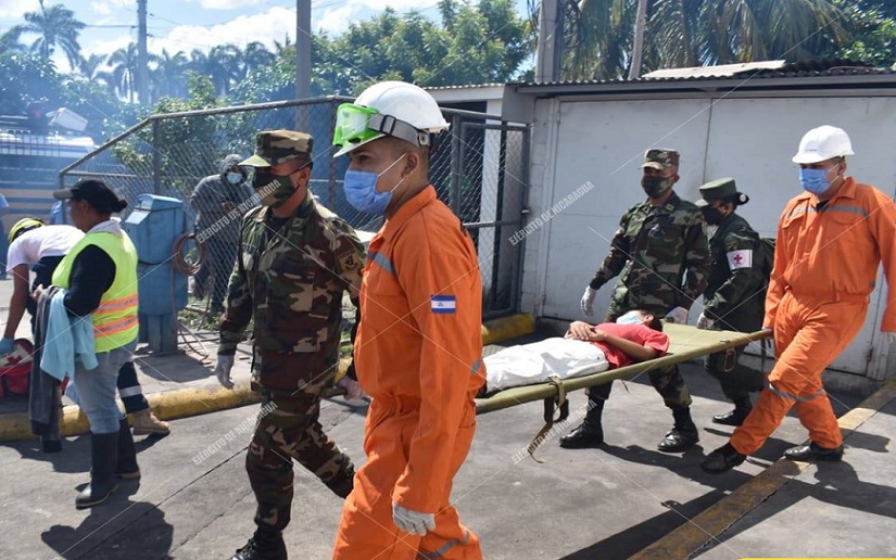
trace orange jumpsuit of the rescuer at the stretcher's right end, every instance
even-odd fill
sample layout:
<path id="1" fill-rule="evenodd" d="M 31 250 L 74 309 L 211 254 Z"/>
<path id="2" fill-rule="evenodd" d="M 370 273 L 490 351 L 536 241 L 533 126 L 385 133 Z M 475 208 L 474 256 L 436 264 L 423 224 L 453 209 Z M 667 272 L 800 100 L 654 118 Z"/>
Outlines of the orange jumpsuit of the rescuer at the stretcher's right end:
<path id="1" fill-rule="evenodd" d="M 875 188 L 847 177 L 818 208 L 818 198 L 791 200 L 778 225 L 774 268 L 762 324 L 774 329 L 778 361 L 731 445 L 750 455 L 792 406 L 809 437 L 843 444 L 821 373 L 858 334 L 883 262 L 887 279 L 881 330 L 896 331 L 896 206 Z"/>

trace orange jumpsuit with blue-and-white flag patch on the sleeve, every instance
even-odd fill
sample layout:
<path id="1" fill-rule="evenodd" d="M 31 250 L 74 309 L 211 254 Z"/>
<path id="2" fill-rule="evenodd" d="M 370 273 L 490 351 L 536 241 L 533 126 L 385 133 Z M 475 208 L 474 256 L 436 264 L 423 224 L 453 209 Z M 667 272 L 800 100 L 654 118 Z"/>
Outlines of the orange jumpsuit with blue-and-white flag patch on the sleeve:
<path id="1" fill-rule="evenodd" d="M 450 504 L 476 431 L 482 288 L 472 241 L 429 186 L 370 242 L 355 340 L 373 397 L 367 462 L 345 500 L 335 559 L 478 559 L 478 537 Z M 436 514 L 426 536 L 399 531 L 392 502 Z"/>

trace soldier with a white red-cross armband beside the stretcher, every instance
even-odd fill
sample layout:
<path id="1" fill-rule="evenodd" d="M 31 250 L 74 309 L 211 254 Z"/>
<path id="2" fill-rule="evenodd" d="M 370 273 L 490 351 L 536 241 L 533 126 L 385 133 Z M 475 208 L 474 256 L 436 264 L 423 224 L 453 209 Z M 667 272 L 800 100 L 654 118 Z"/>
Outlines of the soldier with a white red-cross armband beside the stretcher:
<path id="1" fill-rule="evenodd" d="M 701 187 L 697 206 L 710 226 L 719 229 L 709 240 L 712 267 L 709 285 L 703 294 L 704 311 L 697 319 L 698 329 L 755 332 L 762 328 L 768 279 L 762 276 L 759 234 L 734 211 L 749 202 L 737 192 L 734 179 L 724 178 Z M 710 354 L 704 368 L 719 380 L 724 396 L 734 403 L 734 410 L 712 417 L 725 425 L 741 425 L 753 405 L 749 393 L 762 389 L 765 374 L 740 364 L 744 347 Z"/>

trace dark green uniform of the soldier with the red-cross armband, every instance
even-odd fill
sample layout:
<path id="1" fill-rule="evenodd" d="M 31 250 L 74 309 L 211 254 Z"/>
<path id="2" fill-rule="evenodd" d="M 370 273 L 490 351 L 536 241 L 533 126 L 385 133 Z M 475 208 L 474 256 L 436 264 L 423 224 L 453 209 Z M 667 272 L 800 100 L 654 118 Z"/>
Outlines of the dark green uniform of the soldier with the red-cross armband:
<path id="1" fill-rule="evenodd" d="M 758 258 L 759 243 L 759 234 L 733 212 L 724 217 L 709 240 L 712 265 L 703 298 L 704 314 L 712 319 L 714 329 L 755 332 L 762 328 L 767 280 Z M 742 251 L 748 253 L 736 253 Z M 730 262 L 730 258 L 743 259 L 747 255 L 752 266 L 737 267 L 736 263 Z M 735 264 L 734 268 L 732 264 Z M 743 351 L 741 346 L 733 353 L 711 354 L 704 360 L 706 371 L 719 380 L 724 395 L 735 403 L 748 399 L 749 392 L 761 390 L 765 381 L 761 371 L 740 364 Z"/>

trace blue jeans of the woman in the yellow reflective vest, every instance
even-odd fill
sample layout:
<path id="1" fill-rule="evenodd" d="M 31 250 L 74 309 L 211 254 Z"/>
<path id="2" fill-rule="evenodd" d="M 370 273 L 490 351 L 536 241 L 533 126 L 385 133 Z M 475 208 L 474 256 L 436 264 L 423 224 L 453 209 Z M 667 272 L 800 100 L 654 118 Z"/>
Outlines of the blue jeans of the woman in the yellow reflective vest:
<path id="1" fill-rule="evenodd" d="M 130 359 L 137 341 L 109 352 L 97 354 L 99 366 L 89 371 L 80 364 L 75 365 L 74 385 L 80 409 L 90 422 L 90 432 L 111 434 L 118 431 L 124 415 L 115 400 L 118 370 Z M 70 395 L 72 396 L 72 395 Z"/>

